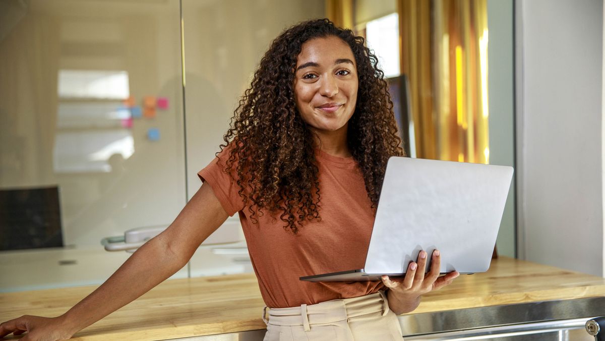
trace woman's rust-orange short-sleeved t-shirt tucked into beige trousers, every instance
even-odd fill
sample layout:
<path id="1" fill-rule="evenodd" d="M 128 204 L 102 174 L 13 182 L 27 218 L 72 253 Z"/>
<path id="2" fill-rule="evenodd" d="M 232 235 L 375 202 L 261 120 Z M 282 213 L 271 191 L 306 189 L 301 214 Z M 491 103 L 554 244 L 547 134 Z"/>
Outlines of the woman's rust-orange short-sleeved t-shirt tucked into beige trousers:
<path id="1" fill-rule="evenodd" d="M 239 213 L 250 260 L 264 302 L 270 308 L 286 308 L 376 293 L 382 282 L 303 282 L 301 276 L 361 269 L 370 243 L 374 211 L 365 190 L 364 178 L 353 157 L 316 152 L 319 168 L 319 216 L 305 222 L 293 234 L 273 214 L 250 221 L 240 189 L 224 171 L 223 150 L 198 173 L 208 182 L 224 210 Z"/>

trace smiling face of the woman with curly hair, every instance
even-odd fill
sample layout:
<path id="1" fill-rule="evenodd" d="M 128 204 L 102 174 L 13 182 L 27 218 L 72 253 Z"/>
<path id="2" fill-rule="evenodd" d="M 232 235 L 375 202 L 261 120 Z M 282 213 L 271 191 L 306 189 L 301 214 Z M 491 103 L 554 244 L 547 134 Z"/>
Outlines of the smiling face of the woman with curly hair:
<path id="1" fill-rule="evenodd" d="M 347 128 L 357 102 L 357 65 L 348 44 L 336 36 L 302 44 L 296 61 L 296 107 L 318 133 Z"/>

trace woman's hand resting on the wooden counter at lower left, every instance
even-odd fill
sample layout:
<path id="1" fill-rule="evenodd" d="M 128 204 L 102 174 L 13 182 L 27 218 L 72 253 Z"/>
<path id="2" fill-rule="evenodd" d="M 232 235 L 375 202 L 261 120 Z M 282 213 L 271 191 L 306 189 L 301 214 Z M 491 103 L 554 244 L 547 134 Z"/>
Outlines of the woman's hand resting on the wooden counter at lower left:
<path id="1" fill-rule="evenodd" d="M 70 339 L 73 335 L 65 327 L 62 317 L 24 315 L 0 324 L 0 338 L 10 333 L 21 335 L 20 341 L 56 341 Z"/>

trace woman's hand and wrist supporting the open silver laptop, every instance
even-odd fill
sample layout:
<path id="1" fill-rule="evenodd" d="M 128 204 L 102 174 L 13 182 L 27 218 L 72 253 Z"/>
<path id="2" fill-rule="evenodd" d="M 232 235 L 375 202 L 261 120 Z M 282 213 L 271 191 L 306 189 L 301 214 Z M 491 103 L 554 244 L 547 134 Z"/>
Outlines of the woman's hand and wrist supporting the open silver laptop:
<path id="1" fill-rule="evenodd" d="M 382 276 L 382 283 L 387 291 L 388 307 L 397 315 L 410 313 L 420 304 L 420 296 L 430 291 L 439 290 L 460 276 L 453 271 L 439 277 L 441 257 L 438 250 L 433 251 L 431 271 L 425 274 L 427 267 L 427 251 L 420 251 L 418 263 L 411 262 L 403 279 L 391 279 Z"/>

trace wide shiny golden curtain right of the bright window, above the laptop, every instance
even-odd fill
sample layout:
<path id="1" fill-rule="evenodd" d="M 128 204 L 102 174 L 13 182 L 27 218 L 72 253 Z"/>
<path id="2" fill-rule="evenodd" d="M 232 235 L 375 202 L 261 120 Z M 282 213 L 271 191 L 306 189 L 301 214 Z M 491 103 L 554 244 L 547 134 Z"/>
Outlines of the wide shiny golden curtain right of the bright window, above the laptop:
<path id="1" fill-rule="evenodd" d="M 418 157 L 489 162 L 486 0 L 399 0 Z"/>

